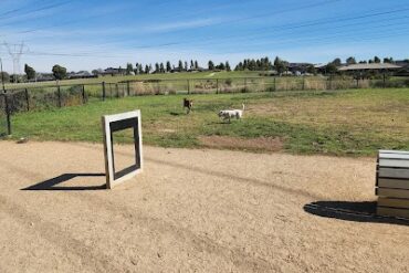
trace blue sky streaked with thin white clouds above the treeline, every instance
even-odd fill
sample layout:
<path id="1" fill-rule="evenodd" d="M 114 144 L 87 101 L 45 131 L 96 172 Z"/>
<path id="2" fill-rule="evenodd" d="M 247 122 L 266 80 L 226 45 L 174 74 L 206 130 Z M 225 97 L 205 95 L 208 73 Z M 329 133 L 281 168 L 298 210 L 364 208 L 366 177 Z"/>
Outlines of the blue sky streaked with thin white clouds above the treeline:
<path id="1" fill-rule="evenodd" d="M 56 63 L 78 71 L 179 59 L 407 59 L 408 33 L 407 0 L 0 1 L 1 43 L 23 41 L 21 66 L 40 72 Z M 11 72 L 3 45 L 0 57 Z"/>

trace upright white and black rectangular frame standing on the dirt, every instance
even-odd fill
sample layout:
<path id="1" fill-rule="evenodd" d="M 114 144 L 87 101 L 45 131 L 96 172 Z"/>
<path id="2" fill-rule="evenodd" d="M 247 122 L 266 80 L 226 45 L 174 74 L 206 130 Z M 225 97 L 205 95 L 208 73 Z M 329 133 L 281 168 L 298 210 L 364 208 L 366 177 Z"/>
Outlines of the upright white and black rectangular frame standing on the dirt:
<path id="1" fill-rule="evenodd" d="M 104 135 L 106 188 L 112 189 L 117 183 L 136 176 L 143 170 L 140 111 L 103 116 L 102 126 Z M 134 130 L 135 162 L 123 170 L 116 171 L 113 133 L 128 128 Z"/>

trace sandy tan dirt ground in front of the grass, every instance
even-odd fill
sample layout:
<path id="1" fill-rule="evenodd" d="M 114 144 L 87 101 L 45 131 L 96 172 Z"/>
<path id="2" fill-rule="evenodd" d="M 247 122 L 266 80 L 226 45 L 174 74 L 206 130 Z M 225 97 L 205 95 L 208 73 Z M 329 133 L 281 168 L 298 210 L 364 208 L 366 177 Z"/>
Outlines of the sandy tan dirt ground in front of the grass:
<path id="1" fill-rule="evenodd" d="M 370 214 L 374 158 L 145 147 L 103 190 L 101 145 L 0 153 L 0 272 L 409 271 L 408 222 Z"/>

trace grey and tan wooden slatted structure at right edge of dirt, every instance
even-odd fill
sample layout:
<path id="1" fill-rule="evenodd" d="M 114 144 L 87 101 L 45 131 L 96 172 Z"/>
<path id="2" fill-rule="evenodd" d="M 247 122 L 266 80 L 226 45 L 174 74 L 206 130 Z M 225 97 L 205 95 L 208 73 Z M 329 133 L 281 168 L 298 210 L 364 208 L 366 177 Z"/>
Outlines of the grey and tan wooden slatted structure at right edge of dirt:
<path id="1" fill-rule="evenodd" d="M 376 195 L 378 216 L 409 219 L 409 151 L 379 150 Z"/>

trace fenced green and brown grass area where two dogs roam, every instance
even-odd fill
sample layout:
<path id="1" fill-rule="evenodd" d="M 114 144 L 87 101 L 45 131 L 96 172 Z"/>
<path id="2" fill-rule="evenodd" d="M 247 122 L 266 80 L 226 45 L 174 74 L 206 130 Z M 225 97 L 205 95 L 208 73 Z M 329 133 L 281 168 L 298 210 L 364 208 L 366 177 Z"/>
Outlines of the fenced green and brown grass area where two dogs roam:
<path id="1" fill-rule="evenodd" d="M 20 113 L 12 117 L 13 137 L 99 143 L 102 115 L 140 108 L 144 143 L 162 147 L 364 156 L 379 148 L 409 149 L 407 88 L 191 95 L 190 115 L 182 97 L 127 97 Z M 218 118 L 219 109 L 241 103 L 248 107 L 242 120 Z M 126 134 L 118 137 L 129 140 Z"/>

